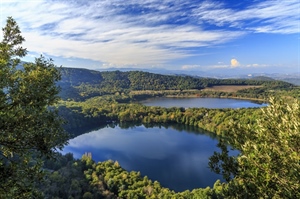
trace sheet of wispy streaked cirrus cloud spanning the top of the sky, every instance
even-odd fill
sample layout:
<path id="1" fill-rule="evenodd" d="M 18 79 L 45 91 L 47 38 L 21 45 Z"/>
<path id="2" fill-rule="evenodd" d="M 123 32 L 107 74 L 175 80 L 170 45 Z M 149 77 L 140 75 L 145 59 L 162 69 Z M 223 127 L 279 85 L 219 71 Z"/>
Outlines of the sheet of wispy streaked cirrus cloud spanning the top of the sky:
<path id="1" fill-rule="evenodd" d="M 299 32 L 297 5 L 296 0 L 258 1 L 235 10 L 191 0 L 2 0 L 1 21 L 3 26 L 13 13 L 26 47 L 34 52 L 155 65 L 198 55 L 193 49 L 223 44 L 249 31 Z"/>

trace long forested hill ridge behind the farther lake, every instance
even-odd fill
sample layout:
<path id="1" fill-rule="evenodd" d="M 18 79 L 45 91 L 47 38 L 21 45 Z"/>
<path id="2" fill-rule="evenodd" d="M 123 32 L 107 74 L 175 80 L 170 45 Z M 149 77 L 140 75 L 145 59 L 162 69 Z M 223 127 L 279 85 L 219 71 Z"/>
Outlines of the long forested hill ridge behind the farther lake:
<path id="1" fill-rule="evenodd" d="M 88 69 L 61 68 L 62 98 L 88 98 L 92 96 L 128 92 L 133 90 L 187 90 L 216 85 L 259 85 L 269 88 L 288 88 L 283 81 L 257 79 L 214 79 L 191 76 L 160 75 L 141 71 L 99 72 Z"/>

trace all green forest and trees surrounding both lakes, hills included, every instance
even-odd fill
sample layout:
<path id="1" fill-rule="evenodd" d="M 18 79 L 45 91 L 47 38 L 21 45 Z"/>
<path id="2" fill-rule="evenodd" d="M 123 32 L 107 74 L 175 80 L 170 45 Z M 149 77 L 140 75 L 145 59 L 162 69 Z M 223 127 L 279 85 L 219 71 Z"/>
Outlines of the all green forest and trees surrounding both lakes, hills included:
<path id="1" fill-rule="evenodd" d="M 212 79 L 22 63 L 25 39 L 7 19 L 0 43 L 0 198 L 300 198 L 299 87 L 270 79 Z M 22 63 L 22 64 L 21 64 Z M 20 66 L 21 64 L 21 66 Z M 237 91 L 214 86 L 241 86 Z M 209 89 L 207 89 L 209 88 Z M 267 102 L 240 109 L 152 107 L 150 97 L 227 97 Z M 209 167 L 226 182 L 174 192 L 118 161 L 60 150 L 101 125 L 184 124 L 214 133 Z M 228 154 L 228 145 L 240 151 Z"/>

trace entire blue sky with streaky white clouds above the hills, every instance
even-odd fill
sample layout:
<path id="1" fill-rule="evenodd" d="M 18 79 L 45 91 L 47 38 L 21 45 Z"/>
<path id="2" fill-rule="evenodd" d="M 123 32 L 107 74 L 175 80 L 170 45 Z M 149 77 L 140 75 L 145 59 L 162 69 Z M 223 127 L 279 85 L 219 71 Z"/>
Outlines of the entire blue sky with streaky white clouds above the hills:
<path id="1" fill-rule="evenodd" d="M 0 14 L 17 21 L 24 61 L 300 73 L 299 0 L 0 0 Z"/>

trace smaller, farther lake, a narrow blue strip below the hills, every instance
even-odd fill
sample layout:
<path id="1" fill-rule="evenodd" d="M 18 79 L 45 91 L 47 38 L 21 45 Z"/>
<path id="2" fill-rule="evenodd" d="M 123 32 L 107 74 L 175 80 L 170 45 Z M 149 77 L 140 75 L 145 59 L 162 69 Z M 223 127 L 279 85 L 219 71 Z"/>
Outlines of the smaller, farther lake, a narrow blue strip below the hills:
<path id="1" fill-rule="evenodd" d="M 184 107 L 184 108 L 253 108 L 267 106 L 265 103 L 259 103 L 241 99 L 227 98 L 174 98 L 157 97 L 140 101 L 146 106 L 161 107 Z"/>

